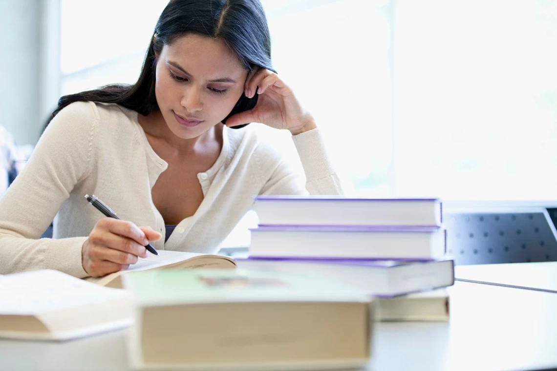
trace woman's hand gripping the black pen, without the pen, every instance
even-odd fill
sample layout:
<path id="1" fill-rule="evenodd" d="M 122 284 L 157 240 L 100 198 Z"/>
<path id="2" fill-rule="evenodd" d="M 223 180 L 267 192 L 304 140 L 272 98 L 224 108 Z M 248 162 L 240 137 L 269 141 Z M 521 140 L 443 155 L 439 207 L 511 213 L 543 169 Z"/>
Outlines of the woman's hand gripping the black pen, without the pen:
<path id="1" fill-rule="evenodd" d="M 105 217 L 97 221 L 81 247 L 81 264 L 92 277 L 104 276 L 147 257 L 145 245 L 162 236 L 151 227 L 138 227 L 130 221 Z"/>

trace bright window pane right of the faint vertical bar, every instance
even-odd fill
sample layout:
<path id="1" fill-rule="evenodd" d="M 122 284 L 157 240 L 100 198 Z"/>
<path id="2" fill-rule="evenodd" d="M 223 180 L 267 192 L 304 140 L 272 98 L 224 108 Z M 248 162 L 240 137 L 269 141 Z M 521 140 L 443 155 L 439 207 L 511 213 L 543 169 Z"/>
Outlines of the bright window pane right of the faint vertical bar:
<path id="1" fill-rule="evenodd" d="M 397 0 L 395 194 L 557 197 L 557 3 Z"/>

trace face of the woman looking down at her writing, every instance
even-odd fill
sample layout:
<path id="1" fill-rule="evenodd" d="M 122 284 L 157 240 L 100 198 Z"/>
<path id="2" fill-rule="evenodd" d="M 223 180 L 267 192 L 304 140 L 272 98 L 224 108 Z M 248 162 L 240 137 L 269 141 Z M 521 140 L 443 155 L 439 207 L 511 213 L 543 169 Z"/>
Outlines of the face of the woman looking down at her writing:
<path id="1" fill-rule="evenodd" d="M 242 96 L 247 73 L 221 39 L 187 34 L 165 45 L 155 95 L 170 131 L 195 138 L 221 122 Z"/>

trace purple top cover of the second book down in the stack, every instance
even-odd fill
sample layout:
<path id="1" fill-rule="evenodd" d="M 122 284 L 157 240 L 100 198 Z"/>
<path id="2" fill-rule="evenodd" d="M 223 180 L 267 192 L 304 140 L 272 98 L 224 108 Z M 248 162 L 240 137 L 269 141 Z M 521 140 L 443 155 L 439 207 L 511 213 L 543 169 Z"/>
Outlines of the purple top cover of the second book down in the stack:
<path id="1" fill-rule="evenodd" d="M 433 233 L 442 230 L 436 225 L 259 225 L 251 231 L 304 232 L 402 232 Z"/>

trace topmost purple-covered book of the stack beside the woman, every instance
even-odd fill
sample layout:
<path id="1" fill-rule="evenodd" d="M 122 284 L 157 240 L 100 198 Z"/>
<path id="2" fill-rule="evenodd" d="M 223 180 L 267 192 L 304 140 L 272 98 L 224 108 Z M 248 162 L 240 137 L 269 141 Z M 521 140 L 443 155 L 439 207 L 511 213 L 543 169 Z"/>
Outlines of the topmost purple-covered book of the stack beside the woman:
<path id="1" fill-rule="evenodd" d="M 260 225 L 441 226 L 437 198 L 372 199 L 342 196 L 257 196 Z"/>

